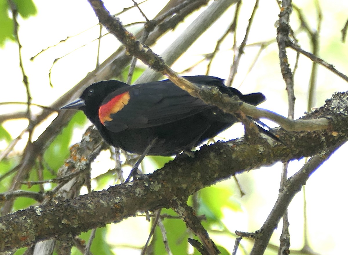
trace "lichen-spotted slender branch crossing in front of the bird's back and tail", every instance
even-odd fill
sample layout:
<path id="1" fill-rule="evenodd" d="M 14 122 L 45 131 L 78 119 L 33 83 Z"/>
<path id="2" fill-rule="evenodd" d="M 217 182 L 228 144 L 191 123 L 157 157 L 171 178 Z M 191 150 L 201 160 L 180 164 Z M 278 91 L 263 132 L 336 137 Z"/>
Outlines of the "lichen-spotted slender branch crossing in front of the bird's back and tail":
<path id="1" fill-rule="evenodd" d="M 125 45 L 126 50 L 130 54 L 142 60 L 145 64 L 149 65 L 150 68 L 166 75 L 173 83 L 190 93 L 190 95 L 200 98 L 206 103 L 216 105 L 228 113 L 234 114 L 238 111 L 243 111 L 243 113 L 248 116 L 267 117 L 280 124 L 288 131 L 311 131 L 329 128 L 328 119 L 319 119 L 316 120 L 315 123 L 313 123 L 313 121 L 304 120 L 291 121 L 283 116 L 241 102 L 238 98 L 235 99 L 223 96 L 219 91 L 215 90 L 211 93 L 210 90 L 200 90 L 195 84 L 192 84 L 188 82 L 188 80 L 178 76 L 176 72 L 168 67 L 164 60 L 155 54 L 147 45 L 137 41 L 135 37 L 129 33 L 124 26 L 122 26 L 117 17 L 110 15 L 101 0 L 88 0 L 88 2 L 95 11 L 100 23 Z"/>

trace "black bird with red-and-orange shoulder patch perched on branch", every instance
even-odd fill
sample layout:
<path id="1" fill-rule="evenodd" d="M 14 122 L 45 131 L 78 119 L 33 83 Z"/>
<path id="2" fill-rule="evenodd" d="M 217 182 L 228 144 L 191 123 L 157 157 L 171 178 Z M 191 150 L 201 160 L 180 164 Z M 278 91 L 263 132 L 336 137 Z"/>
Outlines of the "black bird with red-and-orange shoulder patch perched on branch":
<path id="1" fill-rule="evenodd" d="M 198 87 L 213 86 L 229 96 L 258 105 L 262 93 L 243 95 L 212 76 L 184 77 Z M 238 119 L 191 96 L 170 80 L 130 86 L 117 80 L 90 85 L 61 109 L 84 111 L 106 142 L 127 152 L 169 156 L 201 145 Z"/>

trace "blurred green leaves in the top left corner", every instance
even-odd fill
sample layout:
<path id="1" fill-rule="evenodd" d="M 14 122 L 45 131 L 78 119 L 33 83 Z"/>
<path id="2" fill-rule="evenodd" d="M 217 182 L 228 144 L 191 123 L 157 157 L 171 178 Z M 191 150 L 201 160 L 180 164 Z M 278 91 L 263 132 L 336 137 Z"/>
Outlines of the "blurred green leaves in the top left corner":
<path id="1" fill-rule="evenodd" d="M 37 13 L 34 2 L 31 0 L 13 0 L 12 2 L 23 18 L 29 18 Z M 9 1 L 0 0 L 0 47 L 4 46 L 6 40 L 15 40 L 13 20 L 8 15 L 10 10 Z"/>

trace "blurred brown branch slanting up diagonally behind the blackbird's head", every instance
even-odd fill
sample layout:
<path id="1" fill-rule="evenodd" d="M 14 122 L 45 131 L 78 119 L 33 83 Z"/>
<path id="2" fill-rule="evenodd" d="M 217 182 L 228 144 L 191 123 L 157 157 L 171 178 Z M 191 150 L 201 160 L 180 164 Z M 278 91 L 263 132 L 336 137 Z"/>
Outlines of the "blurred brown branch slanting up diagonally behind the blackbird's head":
<path id="1" fill-rule="evenodd" d="M 177 0 L 171 0 L 168 2 L 168 4 L 159 12 L 159 14 L 156 16 L 161 16 L 162 14 L 166 13 L 168 10 L 173 9 L 178 4 Z M 161 23 L 155 31 L 150 33 L 150 36 L 146 43 L 148 45 L 151 45 L 156 42 L 156 40 L 163 35 L 165 32 L 167 32 L 170 29 L 175 28 L 175 26 L 180 23 L 189 13 L 191 13 L 193 10 L 198 9 L 202 5 L 205 4 L 205 1 L 192 1 L 191 4 L 186 6 L 182 12 L 178 15 L 175 15 L 173 17 L 170 17 L 166 19 L 163 23 Z M 141 34 L 139 32 L 139 34 Z M 137 36 L 136 36 L 137 37 Z M 75 99 L 78 96 L 80 96 L 81 92 L 90 84 L 110 79 L 114 77 L 115 75 L 118 75 L 121 70 L 125 68 L 125 66 L 128 64 L 130 60 L 129 54 L 125 51 L 124 47 L 121 46 L 115 53 L 113 53 L 108 59 L 106 59 L 100 66 L 98 66 L 94 71 L 90 72 L 84 79 L 82 79 L 76 86 L 74 86 L 70 91 L 65 93 L 61 98 L 57 99 L 50 108 L 59 109 L 61 106 L 65 105 L 66 102 L 68 102 L 71 99 Z M 33 121 L 32 125 L 36 126 L 41 121 L 43 121 L 49 114 L 52 113 L 52 110 L 44 110 L 42 113 L 35 118 L 35 121 Z M 22 161 L 21 164 L 18 165 L 16 168 L 17 171 L 20 173 L 20 176 L 25 176 L 32 168 L 35 159 L 37 156 L 42 153 L 45 148 L 50 144 L 50 142 L 56 137 L 56 135 L 59 133 L 59 131 L 66 125 L 66 123 L 71 119 L 73 116 L 73 111 L 61 111 L 60 114 L 55 118 L 55 120 L 47 127 L 47 129 L 40 135 L 40 137 L 34 141 L 33 143 L 30 143 L 26 146 L 23 152 Z M 5 121 L 9 118 L 23 118 L 26 116 L 26 113 L 16 113 L 14 115 L 8 114 L 8 115 L 1 115 L 0 116 L 0 123 Z M 18 189 L 18 185 L 20 185 L 20 182 L 17 182 L 16 178 L 14 180 L 13 184 L 13 190 Z M 2 211 L 2 214 L 6 214 L 9 212 L 12 208 L 12 201 L 7 201 L 6 205 Z"/>

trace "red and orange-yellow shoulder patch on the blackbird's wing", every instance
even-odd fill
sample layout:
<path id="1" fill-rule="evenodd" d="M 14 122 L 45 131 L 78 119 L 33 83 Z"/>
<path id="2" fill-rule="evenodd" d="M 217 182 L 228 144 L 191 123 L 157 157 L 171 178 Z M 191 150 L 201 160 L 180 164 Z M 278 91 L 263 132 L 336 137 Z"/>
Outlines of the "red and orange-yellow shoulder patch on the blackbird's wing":
<path id="1" fill-rule="evenodd" d="M 112 121 L 112 118 L 110 117 L 111 114 L 117 113 L 118 111 L 122 110 L 125 105 L 128 104 L 128 101 L 130 99 L 129 92 L 125 92 L 122 94 L 119 94 L 109 100 L 107 103 L 99 107 L 99 119 L 100 122 L 104 125 L 105 121 Z"/>

